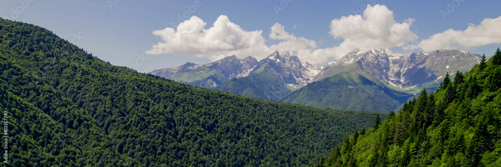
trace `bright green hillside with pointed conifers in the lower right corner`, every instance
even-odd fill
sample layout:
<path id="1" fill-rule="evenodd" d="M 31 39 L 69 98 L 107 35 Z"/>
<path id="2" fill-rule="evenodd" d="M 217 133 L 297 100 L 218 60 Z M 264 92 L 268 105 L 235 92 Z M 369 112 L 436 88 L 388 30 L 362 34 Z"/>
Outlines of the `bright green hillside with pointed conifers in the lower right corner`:
<path id="1" fill-rule="evenodd" d="M 501 166 L 501 51 L 345 137 L 317 166 Z"/>

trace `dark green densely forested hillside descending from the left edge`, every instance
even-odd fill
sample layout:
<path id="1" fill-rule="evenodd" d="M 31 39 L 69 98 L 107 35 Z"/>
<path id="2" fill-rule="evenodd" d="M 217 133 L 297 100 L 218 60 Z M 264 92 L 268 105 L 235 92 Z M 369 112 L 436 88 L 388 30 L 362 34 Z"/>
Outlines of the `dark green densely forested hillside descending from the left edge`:
<path id="1" fill-rule="evenodd" d="M 137 73 L 2 19 L 0 97 L 11 166 L 301 166 L 376 116 Z"/>

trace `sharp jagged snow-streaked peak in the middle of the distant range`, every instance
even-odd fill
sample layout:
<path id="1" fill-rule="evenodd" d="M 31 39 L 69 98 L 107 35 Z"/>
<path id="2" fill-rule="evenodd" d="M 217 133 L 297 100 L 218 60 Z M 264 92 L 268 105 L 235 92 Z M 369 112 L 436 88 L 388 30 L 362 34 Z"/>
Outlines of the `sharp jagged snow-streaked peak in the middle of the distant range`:
<path id="1" fill-rule="evenodd" d="M 320 68 L 289 51 L 275 53 L 261 60 L 249 76 L 232 79 L 216 90 L 247 97 L 279 100 L 292 90 L 309 83 Z"/>

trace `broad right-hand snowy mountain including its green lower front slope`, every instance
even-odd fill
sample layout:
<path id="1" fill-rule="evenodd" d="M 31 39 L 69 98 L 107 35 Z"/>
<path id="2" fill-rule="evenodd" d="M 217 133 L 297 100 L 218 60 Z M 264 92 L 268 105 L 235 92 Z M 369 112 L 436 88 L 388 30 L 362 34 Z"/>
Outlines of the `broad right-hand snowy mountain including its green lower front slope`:
<path id="1" fill-rule="evenodd" d="M 437 89 L 448 72 L 465 71 L 479 55 L 458 50 L 416 52 L 394 57 L 384 50 L 353 52 L 327 64 L 313 83 L 281 101 L 302 105 L 389 112 L 413 97 L 417 89 Z M 370 82 L 357 82 L 360 77 Z M 363 79 L 364 80 L 364 79 Z"/>

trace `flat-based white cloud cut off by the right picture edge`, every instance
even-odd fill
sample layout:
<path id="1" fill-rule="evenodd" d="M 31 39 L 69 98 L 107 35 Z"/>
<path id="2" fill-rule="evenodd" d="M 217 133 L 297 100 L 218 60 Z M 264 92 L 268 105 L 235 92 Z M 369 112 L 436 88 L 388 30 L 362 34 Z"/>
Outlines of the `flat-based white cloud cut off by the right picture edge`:
<path id="1" fill-rule="evenodd" d="M 480 25 L 468 24 L 464 31 L 446 30 L 434 34 L 407 49 L 421 48 L 425 51 L 436 49 L 471 49 L 473 47 L 501 43 L 501 17 L 484 19 Z"/>

